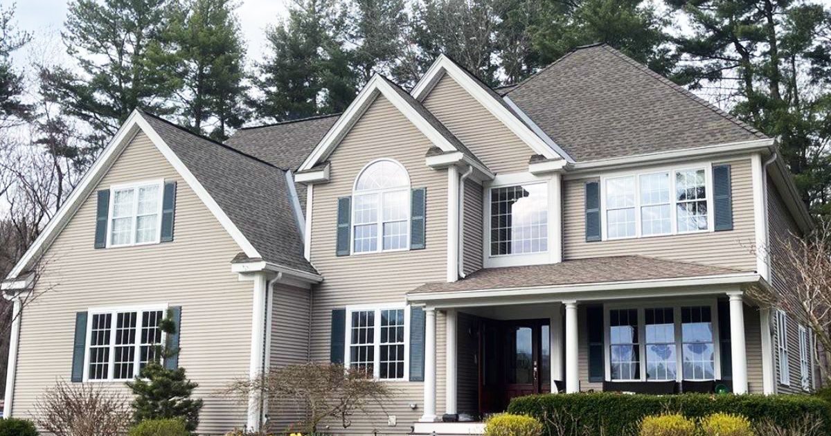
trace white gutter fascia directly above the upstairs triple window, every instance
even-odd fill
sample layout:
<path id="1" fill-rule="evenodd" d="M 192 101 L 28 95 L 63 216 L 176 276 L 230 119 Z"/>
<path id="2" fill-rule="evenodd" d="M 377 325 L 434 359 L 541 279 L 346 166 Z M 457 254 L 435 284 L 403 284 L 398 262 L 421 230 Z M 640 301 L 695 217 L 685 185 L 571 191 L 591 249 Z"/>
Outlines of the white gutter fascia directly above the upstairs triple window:
<path id="1" fill-rule="evenodd" d="M 660 151 L 657 153 L 624 156 L 621 158 L 598 159 L 576 162 L 574 164 L 568 164 L 567 171 L 568 174 L 583 174 L 597 170 L 628 168 L 642 164 L 657 164 L 677 159 L 698 158 L 702 156 L 711 156 L 719 154 L 739 154 L 745 152 L 750 153 L 752 151 L 760 150 L 770 153 L 774 145 L 775 140 L 771 138 L 765 138 L 764 140 L 749 140 L 740 142 L 730 142 L 725 144 L 705 145 L 703 147 L 696 147 L 691 149 L 676 149 L 669 151 Z"/>

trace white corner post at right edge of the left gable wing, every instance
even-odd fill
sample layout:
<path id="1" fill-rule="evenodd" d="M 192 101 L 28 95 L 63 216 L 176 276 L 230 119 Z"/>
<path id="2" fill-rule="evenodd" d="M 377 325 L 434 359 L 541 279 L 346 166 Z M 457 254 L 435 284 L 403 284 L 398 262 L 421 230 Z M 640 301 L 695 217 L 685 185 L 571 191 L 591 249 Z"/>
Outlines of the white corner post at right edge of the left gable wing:
<path id="1" fill-rule="evenodd" d="M 253 273 L 251 309 L 251 359 L 248 361 L 248 377 L 254 379 L 263 372 L 265 352 L 265 308 L 268 278 L 265 272 Z M 257 393 L 248 397 L 248 429 L 259 431 L 262 426 L 262 399 Z"/>

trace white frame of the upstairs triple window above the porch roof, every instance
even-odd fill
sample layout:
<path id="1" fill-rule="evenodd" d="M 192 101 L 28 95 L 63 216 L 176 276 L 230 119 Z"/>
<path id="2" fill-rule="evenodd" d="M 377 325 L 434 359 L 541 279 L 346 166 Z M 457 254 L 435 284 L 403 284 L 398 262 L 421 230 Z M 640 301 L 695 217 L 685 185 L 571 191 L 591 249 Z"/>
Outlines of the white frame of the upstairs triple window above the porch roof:
<path id="1" fill-rule="evenodd" d="M 676 173 L 679 171 L 690 171 L 704 169 L 704 187 L 706 189 L 707 203 L 707 228 L 705 230 L 691 230 L 686 232 L 678 231 L 677 205 L 679 202 L 676 198 Z M 650 235 L 642 234 L 641 223 L 641 208 L 649 204 L 642 204 L 641 202 L 641 176 L 650 174 L 669 174 L 669 190 L 670 190 L 670 233 L 654 233 Z M 635 178 L 635 236 L 625 236 L 610 238 L 607 233 L 607 206 L 606 206 L 606 181 L 608 179 L 619 179 L 622 177 Z M 694 233 L 710 233 L 715 231 L 715 218 L 713 214 L 713 164 L 712 162 L 696 162 L 693 164 L 684 164 L 681 166 L 667 166 L 660 168 L 642 169 L 641 171 L 617 171 L 608 174 L 602 174 L 600 177 L 600 213 L 601 213 L 601 228 L 603 241 L 617 241 L 620 239 L 635 239 L 635 238 L 656 238 L 670 235 L 683 235 Z"/>

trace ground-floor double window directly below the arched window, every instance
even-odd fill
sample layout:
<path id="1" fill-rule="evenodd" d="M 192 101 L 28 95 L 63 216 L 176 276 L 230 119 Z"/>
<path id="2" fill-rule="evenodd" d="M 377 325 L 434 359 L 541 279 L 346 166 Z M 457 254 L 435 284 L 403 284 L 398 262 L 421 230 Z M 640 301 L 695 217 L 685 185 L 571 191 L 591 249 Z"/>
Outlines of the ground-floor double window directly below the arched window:
<path id="1" fill-rule="evenodd" d="M 407 322 L 403 308 L 348 311 L 347 365 L 380 380 L 406 380 Z"/>

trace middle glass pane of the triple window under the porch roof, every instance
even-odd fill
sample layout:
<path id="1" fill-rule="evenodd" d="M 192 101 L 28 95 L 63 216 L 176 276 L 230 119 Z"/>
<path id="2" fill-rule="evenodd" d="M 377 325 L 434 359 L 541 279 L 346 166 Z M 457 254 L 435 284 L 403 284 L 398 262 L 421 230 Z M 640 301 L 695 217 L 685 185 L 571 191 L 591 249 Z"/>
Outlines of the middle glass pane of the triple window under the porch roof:
<path id="1" fill-rule="evenodd" d="M 646 309 L 647 380 L 676 380 L 675 316 L 671 307 Z"/>

